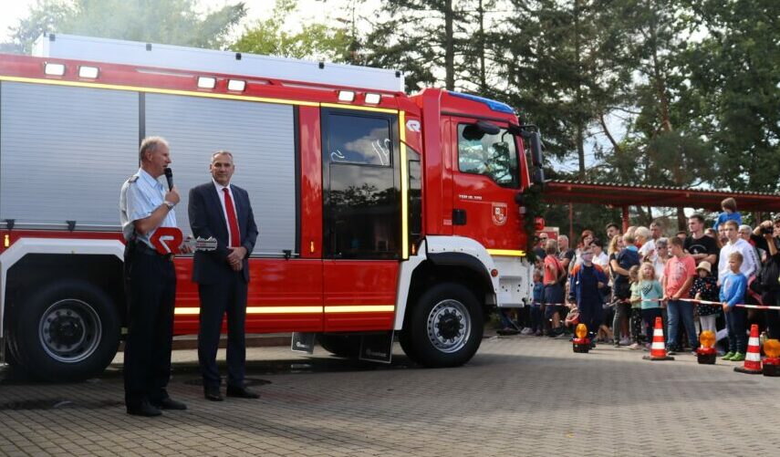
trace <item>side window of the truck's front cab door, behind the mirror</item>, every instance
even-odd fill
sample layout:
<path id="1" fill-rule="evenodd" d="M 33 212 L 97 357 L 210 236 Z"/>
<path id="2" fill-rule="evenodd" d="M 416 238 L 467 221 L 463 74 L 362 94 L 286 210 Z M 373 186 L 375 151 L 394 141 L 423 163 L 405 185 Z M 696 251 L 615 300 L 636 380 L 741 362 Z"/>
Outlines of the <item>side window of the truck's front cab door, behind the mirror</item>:
<path id="1" fill-rule="evenodd" d="M 520 187 L 515 137 L 505 129 L 490 135 L 475 134 L 469 127 L 458 125 L 458 169 L 487 176 L 502 187 Z"/>

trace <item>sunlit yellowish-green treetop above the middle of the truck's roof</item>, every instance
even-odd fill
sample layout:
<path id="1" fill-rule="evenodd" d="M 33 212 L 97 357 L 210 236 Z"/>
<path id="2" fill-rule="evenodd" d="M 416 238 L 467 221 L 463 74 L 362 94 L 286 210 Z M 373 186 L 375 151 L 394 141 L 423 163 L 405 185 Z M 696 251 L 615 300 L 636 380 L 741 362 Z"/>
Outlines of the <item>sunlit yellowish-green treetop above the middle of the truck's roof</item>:
<path id="1" fill-rule="evenodd" d="M 348 29 L 323 24 L 301 26 L 299 31 L 286 30 L 286 18 L 297 8 L 296 0 L 276 0 L 273 14 L 244 28 L 242 36 L 231 47 L 234 51 L 266 56 L 315 58 L 335 62 L 351 60 L 352 36 Z"/>

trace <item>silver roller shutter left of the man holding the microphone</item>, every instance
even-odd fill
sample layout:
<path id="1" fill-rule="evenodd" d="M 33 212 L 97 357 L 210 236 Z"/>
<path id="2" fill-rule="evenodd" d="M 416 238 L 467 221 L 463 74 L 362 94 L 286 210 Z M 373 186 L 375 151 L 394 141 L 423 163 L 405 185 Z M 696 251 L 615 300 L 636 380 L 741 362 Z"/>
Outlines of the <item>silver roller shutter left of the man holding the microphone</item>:
<path id="1" fill-rule="evenodd" d="M 0 89 L 0 220 L 118 230 L 120 186 L 138 169 L 138 94 Z"/>

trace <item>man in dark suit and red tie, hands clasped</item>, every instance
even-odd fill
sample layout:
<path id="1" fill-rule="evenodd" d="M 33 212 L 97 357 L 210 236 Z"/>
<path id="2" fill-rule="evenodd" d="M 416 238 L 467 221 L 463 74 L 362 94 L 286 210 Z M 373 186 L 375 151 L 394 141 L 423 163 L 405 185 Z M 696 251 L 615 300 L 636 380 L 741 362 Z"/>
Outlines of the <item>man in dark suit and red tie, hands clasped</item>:
<path id="1" fill-rule="evenodd" d="M 213 181 L 192 188 L 189 204 L 192 234 L 217 240 L 216 250 L 196 252 L 192 265 L 192 281 L 198 284 L 201 298 L 198 361 L 203 393 L 208 400 L 223 400 L 215 358 L 227 314 L 227 396 L 256 399 L 259 395 L 244 387 L 248 257 L 257 240 L 255 215 L 249 194 L 230 183 L 235 171 L 233 154 L 214 152 L 209 170 Z"/>

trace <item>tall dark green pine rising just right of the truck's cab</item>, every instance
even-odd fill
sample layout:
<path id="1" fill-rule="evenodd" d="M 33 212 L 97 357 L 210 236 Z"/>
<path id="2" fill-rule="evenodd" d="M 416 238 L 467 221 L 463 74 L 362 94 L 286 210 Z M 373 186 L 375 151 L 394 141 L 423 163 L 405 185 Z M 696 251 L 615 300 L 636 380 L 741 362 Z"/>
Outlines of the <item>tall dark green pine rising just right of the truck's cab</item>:
<path id="1" fill-rule="evenodd" d="M 547 151 L 577 158 L 587 178 L 586 141 L 611 138 L 604 118 L 625 104 L 631 70 L 626 34 L 608 0 L 513 0 L 500 61 L 507 99 L 542 128 Z"/>

